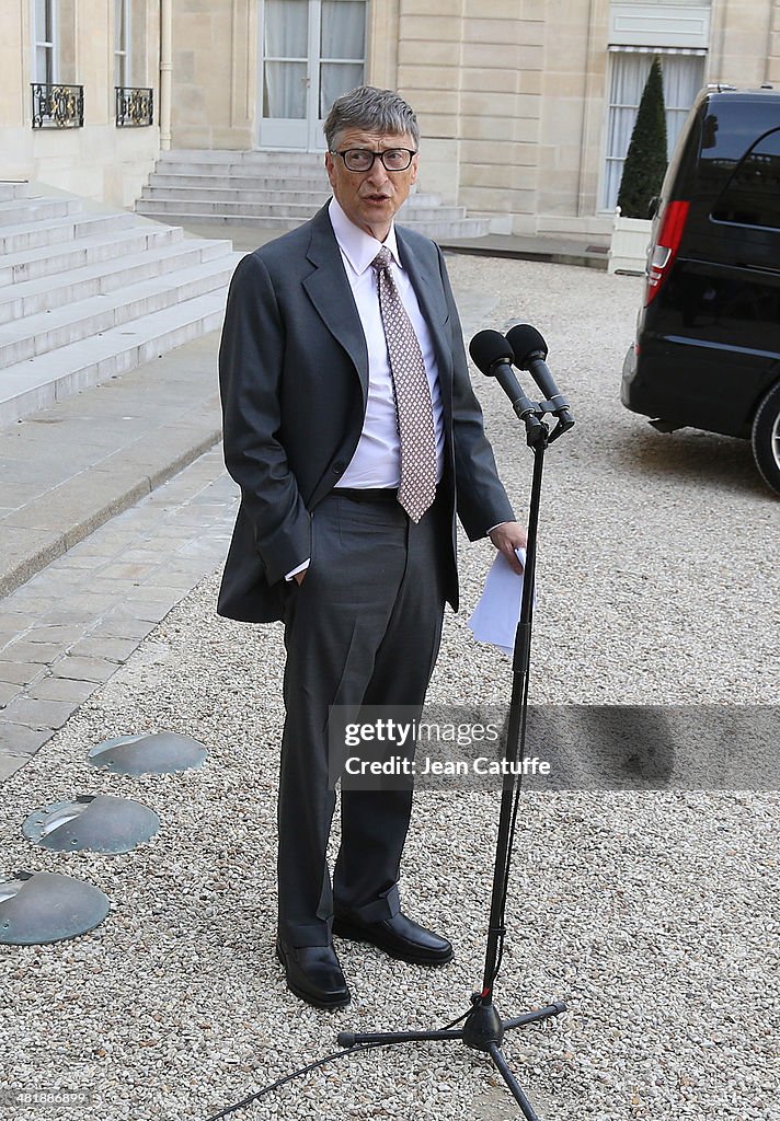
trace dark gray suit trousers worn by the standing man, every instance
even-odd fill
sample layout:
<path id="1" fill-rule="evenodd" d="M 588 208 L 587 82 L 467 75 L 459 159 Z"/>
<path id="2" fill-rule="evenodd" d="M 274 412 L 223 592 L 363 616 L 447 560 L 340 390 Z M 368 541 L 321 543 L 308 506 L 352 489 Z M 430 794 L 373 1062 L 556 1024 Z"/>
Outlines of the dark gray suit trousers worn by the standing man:
<path id="1" fill-rule="evenodd" d="M 330 705 L 421 707 L 435 664 L 450 524 L 437 499 L 419 525 L 393 501 L 338 489 L 312 512 L 306 577 L 285 591 L 286 720 L 278 799 L 278 934 L 327 945 L 333 907 L 378 921 L 398 910 L 409 790 L 342 791 L 331 887 Z"/>

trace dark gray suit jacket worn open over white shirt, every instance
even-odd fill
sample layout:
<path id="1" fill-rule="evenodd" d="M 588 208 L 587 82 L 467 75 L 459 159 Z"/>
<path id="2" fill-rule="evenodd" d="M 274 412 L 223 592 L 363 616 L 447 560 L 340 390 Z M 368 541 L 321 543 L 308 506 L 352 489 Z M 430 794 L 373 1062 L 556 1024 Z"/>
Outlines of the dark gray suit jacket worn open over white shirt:
<path id="1" fill-rule="evenodd" d="M 396 238 L 439 367 L 452 520 L 446 586 L 457 610 L 456 510 L 471 540 L 514 516 L 483 430 L 441 251 L 401 226 Z M 310 511 L 349 464 L 366 408 L 366 342 L 327 206 L 239 262 L 219 361 L 224 460 L 241 504 L 218 611 L 266 622 L 282 618 L 284 576 L 310 556 Z"/>

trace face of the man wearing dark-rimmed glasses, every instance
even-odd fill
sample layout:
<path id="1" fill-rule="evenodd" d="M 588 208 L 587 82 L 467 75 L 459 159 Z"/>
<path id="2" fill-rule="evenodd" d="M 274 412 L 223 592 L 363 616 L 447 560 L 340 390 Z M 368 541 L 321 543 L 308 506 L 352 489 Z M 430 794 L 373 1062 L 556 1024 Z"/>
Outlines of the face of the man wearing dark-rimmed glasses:
<path id="1" fill-rule="evenodd" d="M 338 151 L 348 148 L 412 150 L 414 147 L 406 132 L 364 132 L 361 129 L 345 129 L 336 143 Z M 380 159 L 374 160 L 369 172 L 350 172 L 341 156 L 327 152 L 325 168 L 336 201 L 347 217 L 377 241 L 384 241 L 394 214 L 406 202 L 412 184 L 416 182 L 417 156 L 412 158 L 405 172 L 388 172 Z"/>

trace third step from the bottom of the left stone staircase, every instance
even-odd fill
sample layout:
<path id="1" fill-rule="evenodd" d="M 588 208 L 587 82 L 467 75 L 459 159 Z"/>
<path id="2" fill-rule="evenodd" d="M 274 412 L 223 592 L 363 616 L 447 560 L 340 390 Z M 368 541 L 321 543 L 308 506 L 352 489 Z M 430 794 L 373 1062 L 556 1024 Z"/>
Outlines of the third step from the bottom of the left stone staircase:
<path id="1" fill-rule="evenodd" d="M 154 252 L 144 248 L 138 253 L 121 253 L 109 260 L 71 269 L 64 284 L 53 285 L 51 277 L 44 276 L 0 287 L 0 323 L 26 319 L 182 269 L 205 266 L 212 271 L 217 267 L 215 261 L 231 253 L 229 241 L 180 240 L 155 247 Z"/>

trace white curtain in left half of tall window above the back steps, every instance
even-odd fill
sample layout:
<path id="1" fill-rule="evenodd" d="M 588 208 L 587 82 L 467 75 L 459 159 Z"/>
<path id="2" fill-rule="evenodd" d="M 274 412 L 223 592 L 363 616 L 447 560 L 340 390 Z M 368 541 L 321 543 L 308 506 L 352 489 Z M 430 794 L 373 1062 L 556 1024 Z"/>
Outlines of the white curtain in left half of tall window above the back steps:
<path id="1" fill-rule="evenodd" d="M 306 117 L 309 0 L 266 0 L 263 115 Z"/>

